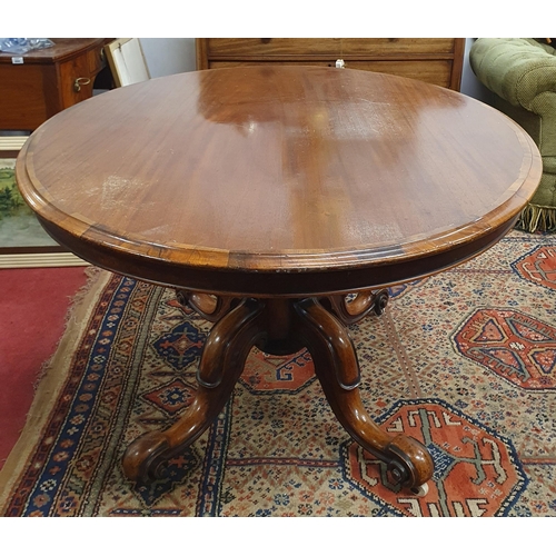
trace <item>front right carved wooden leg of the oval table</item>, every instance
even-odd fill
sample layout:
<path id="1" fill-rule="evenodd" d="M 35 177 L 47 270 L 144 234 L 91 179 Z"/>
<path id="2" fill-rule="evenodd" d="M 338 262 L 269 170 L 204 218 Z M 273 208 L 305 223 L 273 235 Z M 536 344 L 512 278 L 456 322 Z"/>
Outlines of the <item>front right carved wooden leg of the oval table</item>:
<path id="1" fill-rule="evenodd" d="M 366 450 L 388 465 L 396 483 L 419 487 L 430 479 L 433 459 L 419 441 L 384 433 L 359 396 L 359 365 L 344 325 L 316 299 L 296 304 L 298 334 L 311 354 L 315 373 L 336 417 Z"/>

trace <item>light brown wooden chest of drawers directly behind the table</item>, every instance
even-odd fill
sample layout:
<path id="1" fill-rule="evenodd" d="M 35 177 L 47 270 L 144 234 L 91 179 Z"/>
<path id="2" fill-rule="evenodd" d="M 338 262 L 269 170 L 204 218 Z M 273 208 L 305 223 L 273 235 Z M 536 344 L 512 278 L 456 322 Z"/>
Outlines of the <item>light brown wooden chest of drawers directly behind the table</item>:
<path id="1" fill-rule="evenodd" d="M 252 64 L 336 66 L 419 79 L 456 91 L 465 39 L 196 39 L 197 69 Z"/>

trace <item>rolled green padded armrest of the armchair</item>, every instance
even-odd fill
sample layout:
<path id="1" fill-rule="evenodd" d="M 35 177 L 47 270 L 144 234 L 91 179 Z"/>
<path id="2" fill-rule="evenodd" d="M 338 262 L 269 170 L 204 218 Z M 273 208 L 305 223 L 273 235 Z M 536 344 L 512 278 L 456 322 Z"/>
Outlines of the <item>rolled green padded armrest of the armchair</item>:
<path id="1" fill-rule="evenodd" d="M 469 51 L 473 71 L 493 92 L 534 110 L 543 92 L 556 92 L 556 50 L 534 39 L 477 39 Z"/>

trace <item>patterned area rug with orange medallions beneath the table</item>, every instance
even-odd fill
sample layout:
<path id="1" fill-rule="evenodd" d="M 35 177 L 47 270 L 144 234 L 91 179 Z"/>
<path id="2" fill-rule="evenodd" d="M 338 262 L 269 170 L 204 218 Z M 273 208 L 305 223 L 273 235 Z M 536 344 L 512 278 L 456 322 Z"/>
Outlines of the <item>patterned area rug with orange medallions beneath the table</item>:
<path id="1" fill-rule="evenodd" d="M 232 399 L 168 475 L 126 480 L 126 446 L 188 406 L 207 321 L 173 291 L 99 272 L 0 474 L 4 516 L 556 516 L 556 237 L 513 231 L 396 287 L 350 327 L 361 396 L 435 460 L 427 496 L 337 424 L 306 351 L 254 350 Z"/>

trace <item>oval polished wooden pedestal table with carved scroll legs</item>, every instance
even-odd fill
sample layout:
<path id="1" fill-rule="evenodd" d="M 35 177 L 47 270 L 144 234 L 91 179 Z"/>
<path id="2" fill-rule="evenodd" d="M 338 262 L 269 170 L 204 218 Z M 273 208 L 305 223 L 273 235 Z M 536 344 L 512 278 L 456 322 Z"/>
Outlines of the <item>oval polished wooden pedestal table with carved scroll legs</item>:
<path id="1" fill-rule="evenodd" d="M 361 404 L 347 325 L 386 287 L 480 254 L 542 175 L 532 139 L 460 93 L 381 73 L 244 67 L 152 79 L 42 125 L 17 161 L 44 229 L 93 265 L 172 287 L 215 322 L 193 401 L 135 440 L 129 479 L 158 477 L 229 399 L 254 346 L 307 347 L 341 425 L 423 492 L 433 459 Z"/>

